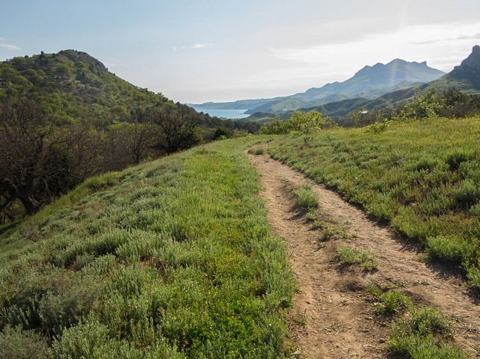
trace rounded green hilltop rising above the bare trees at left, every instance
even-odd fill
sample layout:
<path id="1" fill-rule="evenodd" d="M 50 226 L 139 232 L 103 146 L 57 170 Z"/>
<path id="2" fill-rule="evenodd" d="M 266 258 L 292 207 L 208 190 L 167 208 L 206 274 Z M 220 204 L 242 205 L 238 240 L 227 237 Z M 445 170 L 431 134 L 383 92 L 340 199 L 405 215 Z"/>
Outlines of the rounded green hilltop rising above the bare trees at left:
<path id="1" fill-rule="evenodd" d="M 108 125 L 128 121 L 148 106 L 171 103 L 108 71 L 88 53 L 63 50 L 0 62 L 0 99 L 27 96 L 45 105 L 60 122 Z"/>

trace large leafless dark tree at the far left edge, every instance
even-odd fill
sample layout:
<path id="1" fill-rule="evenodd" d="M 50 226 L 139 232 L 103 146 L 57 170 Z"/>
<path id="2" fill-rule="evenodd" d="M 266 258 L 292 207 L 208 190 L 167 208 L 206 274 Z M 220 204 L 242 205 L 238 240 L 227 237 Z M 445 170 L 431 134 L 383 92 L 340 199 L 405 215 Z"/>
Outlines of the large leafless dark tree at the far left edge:
<path id="1" fill-rule="evenodd" d="M 28 99 L 0 104 L 0 212 L 17 199 L 32 214 L 93 171 L 87 132 L 56 128 L 47 112 Z M 90 154 L 89 154 L 90 153 Z M 82 164 L 82 165 L 81 165 Z"/>

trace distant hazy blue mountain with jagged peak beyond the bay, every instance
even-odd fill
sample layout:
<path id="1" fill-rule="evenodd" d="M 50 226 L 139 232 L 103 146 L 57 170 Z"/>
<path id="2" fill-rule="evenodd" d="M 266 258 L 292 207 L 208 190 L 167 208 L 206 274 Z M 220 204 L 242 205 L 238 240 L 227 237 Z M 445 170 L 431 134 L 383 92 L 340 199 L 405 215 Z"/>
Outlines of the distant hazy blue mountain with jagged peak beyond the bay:
<path id="1" fill-rule="evenodd" d="M 191 105 L 196 110 L 208 108 L 245 109 L 246 114 L 254 112 L 282 114 L 299 108 L 320 106 L 324 103 L 346 99 L 375 99 L 385 93 L 401 88 L 431 82 L 444 75 L 442 71 L 427 66 L 427 62 L 392 60 L 388 64 L 365 66 L 344 82 L 333 82 L 320 88 L 273 99 L 239 100 L 228 103 L 202 103 Z"/>

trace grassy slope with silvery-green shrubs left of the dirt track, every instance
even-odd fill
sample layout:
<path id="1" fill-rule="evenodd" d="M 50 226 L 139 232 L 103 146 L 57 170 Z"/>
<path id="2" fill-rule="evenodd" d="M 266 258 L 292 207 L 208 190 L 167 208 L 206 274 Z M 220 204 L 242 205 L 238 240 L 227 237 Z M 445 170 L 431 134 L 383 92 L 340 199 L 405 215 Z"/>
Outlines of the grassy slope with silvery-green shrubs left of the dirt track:
<path id="1" fill-rule="evenodd" d="M 293 277 L 241 152 L 94 177 L 1 235 L 2 358 L 278 358 Z"/>

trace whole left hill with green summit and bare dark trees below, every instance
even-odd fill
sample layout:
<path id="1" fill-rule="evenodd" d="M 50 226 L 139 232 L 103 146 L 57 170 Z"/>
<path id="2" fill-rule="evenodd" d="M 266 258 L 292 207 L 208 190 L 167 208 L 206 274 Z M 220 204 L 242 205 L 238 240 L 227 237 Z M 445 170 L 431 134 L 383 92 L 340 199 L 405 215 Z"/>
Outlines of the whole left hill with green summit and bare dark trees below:
<path id="1" fill-rule="evenodd" d="M 84 52 L 0 62 L 0 224 L 91 175 L 257 131 L 137 88 Z"/>

